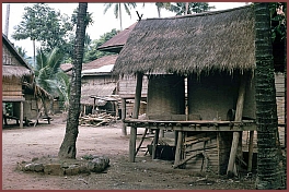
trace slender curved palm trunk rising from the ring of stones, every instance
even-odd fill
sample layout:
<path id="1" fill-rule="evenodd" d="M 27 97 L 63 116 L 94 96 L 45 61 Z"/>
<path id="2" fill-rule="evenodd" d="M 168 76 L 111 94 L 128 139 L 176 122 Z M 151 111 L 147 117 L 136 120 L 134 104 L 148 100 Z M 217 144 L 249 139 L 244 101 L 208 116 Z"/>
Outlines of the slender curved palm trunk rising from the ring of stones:
<path id="1" fill-rule="evenodd" d="M 76 143 L 79 132 L 78 125 L 80 113 L 81 70 L 86 27 L 84 21 L 86 16 L 86 10 L 88 3 L 79 3 L 68 119 L 65 139 L 58 153 L 59 158 L 76 158 L 77 155 Z"/>

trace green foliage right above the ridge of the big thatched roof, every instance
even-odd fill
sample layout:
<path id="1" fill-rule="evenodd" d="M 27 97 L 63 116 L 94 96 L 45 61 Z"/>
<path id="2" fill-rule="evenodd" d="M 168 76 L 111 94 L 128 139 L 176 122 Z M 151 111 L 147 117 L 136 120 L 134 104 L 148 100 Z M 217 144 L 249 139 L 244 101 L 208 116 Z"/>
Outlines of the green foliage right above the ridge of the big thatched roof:
<path id="1" fill-rule="evenodd" d="M 187 14 L 201 13 L 215 9 L 215 7 L 209 7 L 207 2 L 176 2 L 175 4 L 171 3 L 169 11 L 175 12 L 176 15 L 185 15 L 186 5 L 188 5 Z"/>

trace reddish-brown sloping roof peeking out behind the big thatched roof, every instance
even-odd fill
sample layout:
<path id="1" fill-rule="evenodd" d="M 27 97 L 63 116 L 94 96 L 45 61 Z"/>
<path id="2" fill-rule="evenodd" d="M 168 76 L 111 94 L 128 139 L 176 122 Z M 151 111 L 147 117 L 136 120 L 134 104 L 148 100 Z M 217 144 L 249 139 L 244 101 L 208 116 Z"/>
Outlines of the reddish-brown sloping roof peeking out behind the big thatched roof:
<path id="1" fill-rule="evenodd" d="M 127 38 L 130 32 L 134 29 L 137 23 L 134 23 L 129 27 L 125 28 L 124 31 L 119 32 L 116 36 L 97 47 L 97 50 L 101 51 L 108 51 L 108 52 L 120 52 L 122 48 L 127 41 Z"/>

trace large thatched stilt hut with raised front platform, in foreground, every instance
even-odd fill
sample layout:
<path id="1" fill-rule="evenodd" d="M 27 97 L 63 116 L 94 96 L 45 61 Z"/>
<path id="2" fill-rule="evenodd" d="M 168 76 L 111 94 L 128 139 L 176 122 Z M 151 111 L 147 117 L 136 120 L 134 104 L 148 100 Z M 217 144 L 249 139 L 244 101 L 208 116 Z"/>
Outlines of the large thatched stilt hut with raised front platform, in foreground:
<path id="1" fill-rule="evenodd" d="M 175 132 L 175 168 L 220 175 L 252 169 L 253 151 L 243 158 L 241 133 L 256 133 L 254 25 L 251 5 L 136 24 L 114 65 L 115 74 L 137 82 L 132 118 L 124 119 L 131 127 L 130 161 L 137 129 L 146 128 L 154 130 L 152 158 L 159 132 Z M 143 76 L 147 116 L 138 119 Z"/>

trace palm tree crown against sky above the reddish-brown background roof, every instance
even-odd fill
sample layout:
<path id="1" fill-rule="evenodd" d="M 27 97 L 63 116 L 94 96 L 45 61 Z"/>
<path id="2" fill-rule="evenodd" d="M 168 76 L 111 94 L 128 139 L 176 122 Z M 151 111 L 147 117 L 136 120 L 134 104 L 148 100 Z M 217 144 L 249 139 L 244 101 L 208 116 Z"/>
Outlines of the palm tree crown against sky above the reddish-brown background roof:
<path id="1" fill-rule="evenodd" d="M 137 4 L 135 2 L 127 2 L 127 3 L 104 3 L 105 5 L 105 9 L 104 9 L 104 14 L 106 13 L 106 11 L 112 8 L 112 5 L 114 5 L 114 14 L 115 14 L 115 17 L 118 19 L 119 17 L 119 22 L 120 22 L 120 31 L 123 31 L 123 24 L 122 24 L 122 4 L 124 4 L 125 7 L 125 10 L 126 10 L 126 13 L 131 16 L 130 14 L 130 9 L 131 8 L 136 8 Z"/>

